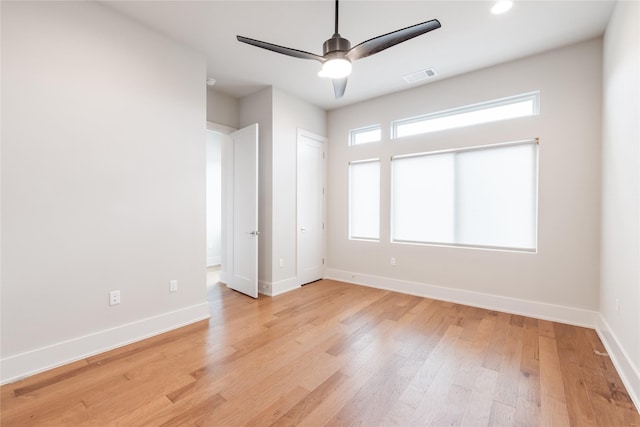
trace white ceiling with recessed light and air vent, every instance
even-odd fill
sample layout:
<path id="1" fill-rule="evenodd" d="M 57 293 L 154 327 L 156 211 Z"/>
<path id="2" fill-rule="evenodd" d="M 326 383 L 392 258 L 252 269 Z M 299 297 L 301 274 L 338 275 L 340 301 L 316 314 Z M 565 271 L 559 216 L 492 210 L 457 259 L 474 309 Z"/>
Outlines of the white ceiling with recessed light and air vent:
<path id="1" fill-rule="evenodd" d="M 321 55 L 334 30 L 333 0 L 102 3 L 204 53 L 220 92 L 242 97 L 272 85 L 327 110 L 597 37 L 614 6 L 612 0 L 516 0 L 496 16 L 493 2 L 484 0 L 343 0 L 340 34 L 352 46 L 434 18 L 442 28 L 356 61 L 336 100 L 331 81 L 317 76 L 319 62 L 236 40 L 243 35 Z M 402 78 L 429 67 L 435 78 L 411 86 Z"/>

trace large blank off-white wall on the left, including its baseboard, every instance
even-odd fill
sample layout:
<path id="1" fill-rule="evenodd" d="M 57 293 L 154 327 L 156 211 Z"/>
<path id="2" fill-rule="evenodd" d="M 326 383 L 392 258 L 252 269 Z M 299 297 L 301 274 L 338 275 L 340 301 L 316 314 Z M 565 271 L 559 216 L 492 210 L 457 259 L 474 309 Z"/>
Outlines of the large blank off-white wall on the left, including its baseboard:
<path id="1" fill-rule="evenodd" d="M 3 382 L 208 317 L 205 78 L 100 4 L 2 2 Z"/>

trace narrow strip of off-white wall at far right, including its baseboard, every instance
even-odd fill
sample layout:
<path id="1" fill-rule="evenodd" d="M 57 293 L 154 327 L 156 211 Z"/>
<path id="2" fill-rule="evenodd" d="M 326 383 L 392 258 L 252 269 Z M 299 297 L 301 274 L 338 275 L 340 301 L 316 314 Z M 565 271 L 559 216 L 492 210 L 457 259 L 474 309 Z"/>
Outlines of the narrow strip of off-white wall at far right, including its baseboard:
<path id="1" fill-rule="evenodd" d="M 640 3 L 604 37 L 601 334 L 640 408 Z M 617 309 L 619 307 L 619 309 Z M 626 361 L 626 363 L 625 363 Z"/>

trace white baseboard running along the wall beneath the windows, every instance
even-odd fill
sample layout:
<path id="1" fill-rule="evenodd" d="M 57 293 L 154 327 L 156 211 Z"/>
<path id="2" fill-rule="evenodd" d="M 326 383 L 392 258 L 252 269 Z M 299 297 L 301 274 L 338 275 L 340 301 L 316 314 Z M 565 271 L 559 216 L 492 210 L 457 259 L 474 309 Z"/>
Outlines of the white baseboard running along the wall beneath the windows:
<path id="1" fill-rule="evenodd" d="M 598 313 L 592 310 L 484 294 L 463 289 L 445 288 L 442 286 L 349 271 L 328 269 L 326 278 L 489 310 L 497 310 L 505 313 L 519 314 L 536 319 L 584 326 L 592 329 L 595 329 L 598 319 Z"/>

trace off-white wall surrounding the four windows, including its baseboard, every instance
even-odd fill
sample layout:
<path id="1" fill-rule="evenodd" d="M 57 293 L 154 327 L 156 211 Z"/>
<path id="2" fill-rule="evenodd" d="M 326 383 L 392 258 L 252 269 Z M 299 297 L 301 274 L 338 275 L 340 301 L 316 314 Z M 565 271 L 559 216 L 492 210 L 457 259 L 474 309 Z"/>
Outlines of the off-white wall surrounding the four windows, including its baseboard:
<path id="1" fill-rule="evenodd" d="M 328 275 L 593 324 L 598 308 L 602 41 L 595 39 L 329 113 Z M 539 116 L 390 140 L 393 119 L 540 90 Z M 380 143 L 348 147 L 381 124 Z M 538 253 L 390 243 L 390 157 L 540 138 Z M 382 159 L 381 241 L 348 239 L 348 163 Z M 395 257 L 397 266 L 390 265 Z"/>

